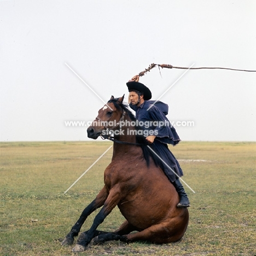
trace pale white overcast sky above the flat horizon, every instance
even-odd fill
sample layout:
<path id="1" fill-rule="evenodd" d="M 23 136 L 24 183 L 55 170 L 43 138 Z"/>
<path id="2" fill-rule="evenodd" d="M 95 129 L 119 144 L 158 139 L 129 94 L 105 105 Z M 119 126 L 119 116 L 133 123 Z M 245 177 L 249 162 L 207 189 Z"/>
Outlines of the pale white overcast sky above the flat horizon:
<path id="1" fill-rule="evenodd" d="M 65 121 L 127 102 L 151 63 L 256 70 L 255 13 L 255 1 L 0 0 L 0 141 L 91 140 Z M 256 72 L 184 72 L 139 80 L 170 121 L 194 123 L 176 126 L 183 141 L 256 141 Z"/>

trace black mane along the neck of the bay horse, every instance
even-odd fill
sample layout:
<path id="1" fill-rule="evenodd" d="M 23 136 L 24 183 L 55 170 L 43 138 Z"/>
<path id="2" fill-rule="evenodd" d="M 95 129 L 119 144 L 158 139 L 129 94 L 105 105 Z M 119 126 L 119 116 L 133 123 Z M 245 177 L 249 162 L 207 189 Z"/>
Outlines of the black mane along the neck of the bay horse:
<path id="1" fill-rule="evenodd" d="M 120 101 L 118 101 L 119 98 L 113 98 L 112 100 L 109 100 L 108 103 L 113 103 L 114 106 L 119 109 L 119 110 L 125 110 L 125 112 L 129 115 L 129 117 L 131 118 L 132 121 L 136 121 L 135 115 L 131 112 L 131 110 L 128 108 L 127 104 L 124 103 L 120 103 Z M 138 129 L 139 127 L 136 127 L 136 129 Z M 149 162 L 150 162 L 150 158 L 153 159 L 153 161 L 155 162 L 156 166 L 161 167 L 162 166 L 162 162 L 161 160 L 158 158 L 158 156 L 156 156 L 152 150 L 150 150 L 147 147 L 148 141 L 146 140 L 146 137 L 144 137 L 143 135 L 136 135 L 136 142 L 137 143 L 141 143 L 141 144 L 145 144 L 145 145 L 141 145 L 141 149 L 143 152 L 143 157 L 147 162 L 147 166 L 149 166 Z"/>

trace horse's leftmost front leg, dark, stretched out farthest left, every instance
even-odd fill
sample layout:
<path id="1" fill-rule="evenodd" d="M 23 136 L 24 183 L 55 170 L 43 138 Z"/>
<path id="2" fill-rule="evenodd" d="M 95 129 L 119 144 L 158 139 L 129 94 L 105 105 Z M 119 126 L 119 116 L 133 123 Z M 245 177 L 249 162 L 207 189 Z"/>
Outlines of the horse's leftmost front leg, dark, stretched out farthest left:
<path id="1" fill-rule="evenodd" d="M 97 208 L 100 208 L 108 197 L 107 189 L 104 186 L 100 193 L 96 196 L 94 201 L 88 205 L 82 212 L 78 221 L 72 226 L 71 231 L 66 235 L 61 245 L 72 245 L 74 242 L 74 236 L 77 236 L 82 225 L 84 224 L 87 217 L 94 212 Z"/>

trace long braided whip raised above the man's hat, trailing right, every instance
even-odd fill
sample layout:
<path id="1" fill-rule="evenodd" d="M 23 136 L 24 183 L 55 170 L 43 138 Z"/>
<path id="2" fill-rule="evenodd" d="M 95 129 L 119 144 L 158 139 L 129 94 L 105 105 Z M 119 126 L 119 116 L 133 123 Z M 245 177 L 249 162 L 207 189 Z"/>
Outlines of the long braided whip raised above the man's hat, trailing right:
<path id="1" fill-rule="evenodd" d="M 191 67 L 191 68 L 189 68 L 189 67 L 176 67 L 176 66 L 172 66 L 170 64 L 155 64 L 155 63 L 152 63 L 144 71 L 135 75 L 130 81 L 138 82 L 140 77 L 142 77 L 144 74 L 146 74 L 147 72 L 149 72 L 152 68 L 154 68 L 156 66 L 158 66 L 159 70 L 160 70 L 160 67 L 161 67 L 161 68 L 178 68 L 178 69 L 228 69 L 228 70 L 234 70 L 234 71 L 256 72 L 256 70 L 225 68 L 225 67 Z"/>

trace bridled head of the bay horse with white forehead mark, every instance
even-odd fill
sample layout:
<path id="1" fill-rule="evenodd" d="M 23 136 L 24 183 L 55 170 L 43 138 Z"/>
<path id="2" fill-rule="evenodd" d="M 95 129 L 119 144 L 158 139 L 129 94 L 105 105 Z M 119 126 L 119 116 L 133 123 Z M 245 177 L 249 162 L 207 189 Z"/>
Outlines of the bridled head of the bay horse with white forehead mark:
<path id="1" fill-rule="evenodd" d="M 101 134 L 107 134 L 108 130 L 118 129 L 119 121 L 124 117 L 123 109 L 120 107 L 123 100 L 124 96 L 120 98 L 111 96 L 108 103 L 98 110 L 98 116 L 87 129 L 89 138 L 96 139 Z"/>

